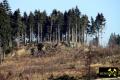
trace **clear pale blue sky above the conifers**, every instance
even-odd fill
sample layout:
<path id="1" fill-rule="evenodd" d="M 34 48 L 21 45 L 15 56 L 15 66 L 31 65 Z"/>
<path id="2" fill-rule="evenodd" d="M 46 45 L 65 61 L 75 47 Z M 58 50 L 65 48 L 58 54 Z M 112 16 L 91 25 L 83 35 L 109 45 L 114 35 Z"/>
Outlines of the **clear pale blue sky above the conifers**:
<path id="1" fill-rule="evenodd" d="M 2 0 L 0 0 L 2 1 Z M 106 18 L 106 26 L 102 44 L 106 45 L 111 33 L 120 34 L 120 0 L 8 0 L 12 11 L 20 9 L 21 14 L 26 11 L 34 12 L 35 9 L 46 10 L 50 15 L 53 9 L 64 12 L 78 6 L 82 14 L 87 14 L 89 18 L 94 18 L 99 13 L 103 13 Z"/>

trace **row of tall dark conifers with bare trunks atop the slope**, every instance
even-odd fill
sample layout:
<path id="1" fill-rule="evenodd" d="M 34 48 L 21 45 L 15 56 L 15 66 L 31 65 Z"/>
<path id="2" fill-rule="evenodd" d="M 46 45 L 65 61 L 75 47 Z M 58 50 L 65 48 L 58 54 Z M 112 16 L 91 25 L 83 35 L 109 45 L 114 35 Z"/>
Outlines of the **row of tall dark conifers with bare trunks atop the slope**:
<path id="1" fill-rule="evenodd" d="M 99 45 L 105 22 L 102 13 L 89 19 L 77 6 L 65 12 L 54 9 L 49 16 L 40 10 L 24 12 L 22 16 L 20 9 L 11 11 L 7 0 L 0 3 L 0 39 L 5 50 L 13 46 L 16 38 L 21 38 L 24 44 L 61 41 L 86 44 L 87 37 L 92 36 Z"/>

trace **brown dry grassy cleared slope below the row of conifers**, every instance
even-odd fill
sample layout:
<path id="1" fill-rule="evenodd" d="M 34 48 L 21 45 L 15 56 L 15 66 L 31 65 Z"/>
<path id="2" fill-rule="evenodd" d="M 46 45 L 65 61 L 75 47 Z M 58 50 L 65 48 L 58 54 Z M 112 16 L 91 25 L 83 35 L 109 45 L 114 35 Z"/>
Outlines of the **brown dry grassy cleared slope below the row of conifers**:
<path id="1" fill-rule="evenodd" d="M 57 46 L 45 50 L 45 54 L 34 57 L 25 48 L 26 55 L 6 58 L 0 65 L 3 80 L 50 80 L 62 75 L 74 76 L 84 80 L 90 60 L 90 77 L 97 78 L 99 67 L 120 67 L 120 49 L 70 48 Z M 91 53 L 88 59 L 88 54 Z"/>

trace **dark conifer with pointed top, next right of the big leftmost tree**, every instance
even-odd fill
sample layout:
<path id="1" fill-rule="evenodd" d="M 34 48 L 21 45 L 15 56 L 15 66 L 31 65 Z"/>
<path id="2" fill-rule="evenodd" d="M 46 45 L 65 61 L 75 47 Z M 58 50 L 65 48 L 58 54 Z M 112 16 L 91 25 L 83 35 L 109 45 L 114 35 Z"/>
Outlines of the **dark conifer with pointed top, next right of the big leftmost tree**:
<path id="1" fill-rule="evenodd" d="M 25 30 L 25 25 L 24 22 L 22 21 L 22 17 L 20 14 L 20 10 L 17 9 L 14 14 L 13 14 L 13 20 L 12 20 L 13 26 L 12 26 L 12 32 L 14 39 L 17 39 L 17 46 L 19 47 L 20 41 L 23 42 L 23 36 L 24 36 L 24 30 Z"/>

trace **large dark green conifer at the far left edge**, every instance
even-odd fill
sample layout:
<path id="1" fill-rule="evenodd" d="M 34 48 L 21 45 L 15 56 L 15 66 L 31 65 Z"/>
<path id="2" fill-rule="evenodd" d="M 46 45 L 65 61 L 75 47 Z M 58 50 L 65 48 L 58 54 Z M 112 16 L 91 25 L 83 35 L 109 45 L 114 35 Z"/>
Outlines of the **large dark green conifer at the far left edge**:
<path id="1" fill-rule="evenodd" d="M 11 41 L 11 27 L 9 16 L 2 3 L 0 4 L 0 39 L 4 59 L 6 50 L 10 48 L 9 43 Z"/>

